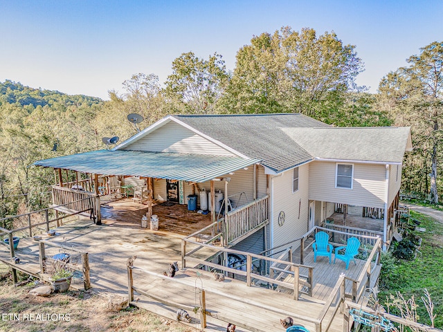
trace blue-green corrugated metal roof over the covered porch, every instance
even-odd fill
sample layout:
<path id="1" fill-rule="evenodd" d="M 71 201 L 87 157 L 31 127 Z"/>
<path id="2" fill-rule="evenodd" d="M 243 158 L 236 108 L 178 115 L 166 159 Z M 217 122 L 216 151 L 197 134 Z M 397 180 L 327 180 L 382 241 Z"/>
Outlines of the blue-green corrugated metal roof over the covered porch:
<path id="1" fill-rule="evenodd" d="M 168 178 L 200 183 L 258 162 L 258 159 L 233 156 L 98 150 L 38 160 L 33 165 L 92 174 Z"/>

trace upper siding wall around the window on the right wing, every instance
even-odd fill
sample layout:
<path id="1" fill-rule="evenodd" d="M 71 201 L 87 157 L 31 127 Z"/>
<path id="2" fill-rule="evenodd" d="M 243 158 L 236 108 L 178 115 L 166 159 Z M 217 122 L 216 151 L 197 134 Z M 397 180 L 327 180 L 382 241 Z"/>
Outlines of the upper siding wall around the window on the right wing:
<path id="1" fill-rule="evenodd" d="M 384 208 L 386 167 L 377 164 L 354 164 L 352 190 L 336 188 L 336 163 L 309 163 L 309 199 L 350 205 Z"/>

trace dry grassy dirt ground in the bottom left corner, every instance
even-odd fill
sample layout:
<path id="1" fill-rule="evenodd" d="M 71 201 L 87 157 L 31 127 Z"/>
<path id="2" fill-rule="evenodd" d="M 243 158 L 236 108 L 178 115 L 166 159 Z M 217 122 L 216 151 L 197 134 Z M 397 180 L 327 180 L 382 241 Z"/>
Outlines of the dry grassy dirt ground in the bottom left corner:
<path id="1" fill-rule="evenodd" d="M 189 326 L 139 308 L 108 311 L 108 298 L 94 291 L 68 291 L 49 297 L 29 295 L 33 282 L 15 287 L 0 265 L 0 331 L 195 332 Z"/>

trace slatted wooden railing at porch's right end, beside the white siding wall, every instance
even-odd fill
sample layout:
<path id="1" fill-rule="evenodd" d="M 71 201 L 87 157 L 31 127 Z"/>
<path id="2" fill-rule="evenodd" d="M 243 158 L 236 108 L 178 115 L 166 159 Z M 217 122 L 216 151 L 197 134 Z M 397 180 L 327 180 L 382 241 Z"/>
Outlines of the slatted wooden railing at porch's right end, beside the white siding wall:
<path id="1" fill-rule="evenodd" d="M 249 232 L 269 221 L 269 195 L 226 213 L 225 244 L 246 237 Z"/>

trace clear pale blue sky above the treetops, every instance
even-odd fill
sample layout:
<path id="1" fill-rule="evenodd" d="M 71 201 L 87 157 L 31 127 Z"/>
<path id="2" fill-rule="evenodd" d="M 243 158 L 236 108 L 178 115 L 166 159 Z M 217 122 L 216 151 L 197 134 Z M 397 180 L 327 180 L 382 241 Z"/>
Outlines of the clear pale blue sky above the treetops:
<path id="1" fill-rule="evenodd" d="M 0 0 L 0 81 L 108 98 L 134 73 L 165 82 L 188 51 L 235 66 L 253 35 L 282 26 L 336 33 L 365 63 L 357 79 L 381 78 L 419 48 L 443 40 L 443 1 Z"/>

